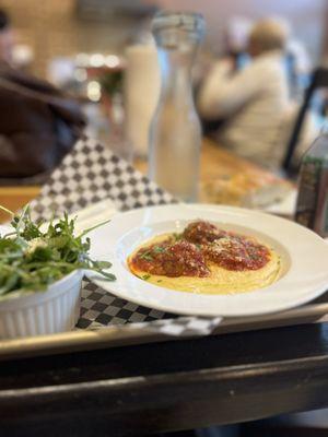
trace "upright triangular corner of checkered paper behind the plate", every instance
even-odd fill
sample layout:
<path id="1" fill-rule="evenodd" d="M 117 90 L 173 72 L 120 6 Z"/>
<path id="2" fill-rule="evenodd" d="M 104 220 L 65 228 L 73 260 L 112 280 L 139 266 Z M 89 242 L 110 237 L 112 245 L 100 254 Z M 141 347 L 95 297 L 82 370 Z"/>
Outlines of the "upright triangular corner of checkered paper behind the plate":
<path id="1" fill-rule="evenodd" d="M 107 198 L 119 211 L 175 201 L 108 147 L 84 138 L 52 173 L 31 206 L 35 218 L 50 220 L 54 211 L 57 215 L 72 213 Z"/>

